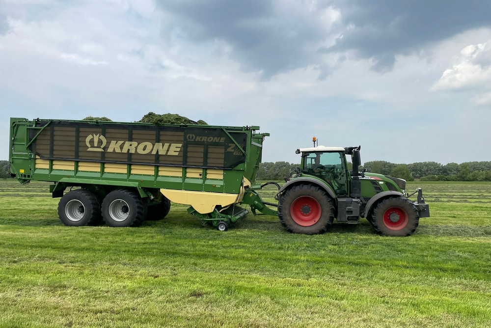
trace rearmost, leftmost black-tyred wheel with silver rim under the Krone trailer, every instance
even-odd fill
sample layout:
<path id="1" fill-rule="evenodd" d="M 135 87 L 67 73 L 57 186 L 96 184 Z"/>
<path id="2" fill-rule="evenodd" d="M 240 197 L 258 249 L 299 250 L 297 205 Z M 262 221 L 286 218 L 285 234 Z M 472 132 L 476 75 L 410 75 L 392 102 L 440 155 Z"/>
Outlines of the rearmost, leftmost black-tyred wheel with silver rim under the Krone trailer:
<path id="1" fill-rule="evenodd" d="M 71 227 L 97 225 L 101 222 L 101 205 L 92 192 L 72 190 L 61 197 L 58 216 L 64 225 Z"/>

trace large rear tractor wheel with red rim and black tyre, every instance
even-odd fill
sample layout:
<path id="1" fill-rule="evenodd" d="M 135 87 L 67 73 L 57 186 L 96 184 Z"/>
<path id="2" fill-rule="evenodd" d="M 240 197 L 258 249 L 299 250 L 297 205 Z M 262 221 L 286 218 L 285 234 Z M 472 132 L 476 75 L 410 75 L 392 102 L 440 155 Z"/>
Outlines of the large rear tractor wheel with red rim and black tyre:
<path id="1" fill-rule="evenodd" d="M 331 227 L 334 206 L 326 191 L 302 184 L 283 192 L 278 202 L 278 217 L 289 232 L 316 235 Z"/>

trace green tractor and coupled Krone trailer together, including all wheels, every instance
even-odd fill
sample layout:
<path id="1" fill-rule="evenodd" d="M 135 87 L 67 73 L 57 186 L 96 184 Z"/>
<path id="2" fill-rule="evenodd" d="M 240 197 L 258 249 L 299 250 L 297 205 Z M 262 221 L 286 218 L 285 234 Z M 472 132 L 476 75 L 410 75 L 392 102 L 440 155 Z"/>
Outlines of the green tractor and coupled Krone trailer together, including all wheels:
<path id="1" fill-rule="evenodd" d="M 278 216 L 286 230 L 325 232 L 336 219 L 366 218 L 389 236 L 408 236 L 430 216 L 420 188 L 359 172 L 360 147 L 297 149 L 301 164 L 286 183 L 255 183 L 267 133 L 258 126 L 155 125 L 25 118 L 10 119 L 10 172 L 21 183 L 48 181 L 61 197 L 58 216 L 68 226 L 130 227 L 163 219 L 171 202 L 218 230 L 245 217 Z M 347 155 L 353 169 L 348 169 Z M 257 193 L 275 185 L 278 204 Z M 68 191 L 67 191 L 68 190 Z M 409 197 L 417 193 L 417 201 Z M 260 212 L 260 213 L 258 213 Z"/>

